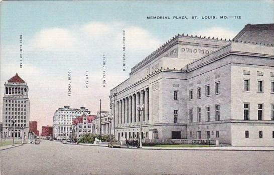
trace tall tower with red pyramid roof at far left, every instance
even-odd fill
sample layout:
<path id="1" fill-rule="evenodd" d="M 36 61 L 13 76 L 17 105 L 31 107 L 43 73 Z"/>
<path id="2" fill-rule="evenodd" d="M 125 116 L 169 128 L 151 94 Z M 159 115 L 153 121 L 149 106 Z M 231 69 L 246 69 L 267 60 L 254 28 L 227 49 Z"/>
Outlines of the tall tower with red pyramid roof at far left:
<path id="1" fill-rule="evenodd" d="M 28 84 L 16 73 L 8 83 L 5 82 L 3 97 L 3 133 L 13 137 L 13 124 L 15 137 L 22 136 L 22 129 L 26 138 L 29 138 L 30 100 L 28 97 Z"/>

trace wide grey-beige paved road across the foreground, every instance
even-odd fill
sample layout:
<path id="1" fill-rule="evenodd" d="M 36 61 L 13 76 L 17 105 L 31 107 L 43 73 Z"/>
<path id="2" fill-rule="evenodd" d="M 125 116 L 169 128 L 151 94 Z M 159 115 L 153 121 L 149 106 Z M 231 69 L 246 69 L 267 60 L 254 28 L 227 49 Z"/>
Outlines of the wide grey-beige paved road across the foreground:
<path id="1" fill-rule="evenodd" d="M 274 174 L 274 151 L 136 150 L 43 140 L 1 151 L 1 174 Z"/>

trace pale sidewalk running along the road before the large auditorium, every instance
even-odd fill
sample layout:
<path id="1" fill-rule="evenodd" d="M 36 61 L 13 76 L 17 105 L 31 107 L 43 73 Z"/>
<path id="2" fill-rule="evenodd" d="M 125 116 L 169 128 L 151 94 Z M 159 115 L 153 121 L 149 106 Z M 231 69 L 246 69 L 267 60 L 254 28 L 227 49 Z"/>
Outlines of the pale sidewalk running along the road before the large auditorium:
<path id="1" fill-rule="evenodd" d="M 107 144 L 89 144 L 89 143 L 63 143 L 63 144 L 73 144 L 73 145 L 84 145 L 84 146 L 101 146 L 107 147 Z M 243 147 L 243 146 L 212 146 L 212 147 L 153 147 L 153 146 L 143 146 L 142 148 L 135 147 L 121 147 L 125 149 L 148 149 L 148 150 L 226 150 L 226 151 L 274 151 L 274 147 L 270 146 L 258 146 L 258 147 Z"/>

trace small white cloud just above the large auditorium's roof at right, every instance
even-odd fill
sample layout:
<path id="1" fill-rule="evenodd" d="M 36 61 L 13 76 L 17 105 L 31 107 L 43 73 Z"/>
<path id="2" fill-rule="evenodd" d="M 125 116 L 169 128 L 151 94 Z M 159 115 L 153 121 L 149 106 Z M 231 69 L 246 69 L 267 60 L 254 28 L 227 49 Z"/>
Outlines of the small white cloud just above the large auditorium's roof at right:
<path id="1" fill-rule="evenodd" d="M 212 27 L 201 31 L 192 32 L 192 34 L 197 36 L 201 35 L 202 37 L 206 36 L 206 38 L 218 37 L 219 39 L 232 39 L 237 35 L 237 32 L 228 30 L 226 28 Z"/>

